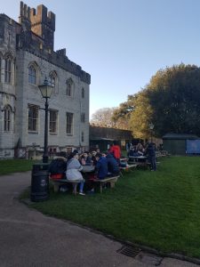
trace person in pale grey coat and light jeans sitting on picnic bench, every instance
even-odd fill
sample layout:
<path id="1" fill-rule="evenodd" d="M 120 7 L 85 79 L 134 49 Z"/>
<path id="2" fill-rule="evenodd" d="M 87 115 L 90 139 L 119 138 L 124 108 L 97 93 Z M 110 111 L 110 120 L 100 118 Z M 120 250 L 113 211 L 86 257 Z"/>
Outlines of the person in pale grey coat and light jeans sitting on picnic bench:
<path id="1" fill-rule="evenodd" d="M 80 162 L 78 161 L 78 154 L 76 152 L 71 152 L 68 156 L 67 161 L 67 172 L 66 178 L 68 181 L 78 181 L 79 184 L 79 194 L 84 194 L 84 178 L 81 174 L 81 170 L 83 166 L 81 166 Z"/>

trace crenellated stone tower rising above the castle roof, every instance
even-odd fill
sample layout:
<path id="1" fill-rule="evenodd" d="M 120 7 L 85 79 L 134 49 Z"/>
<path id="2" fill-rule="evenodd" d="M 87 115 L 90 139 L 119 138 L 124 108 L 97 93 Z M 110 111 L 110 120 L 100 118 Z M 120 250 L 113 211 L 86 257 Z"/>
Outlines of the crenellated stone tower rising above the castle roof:
<path id="1" fill-rule="evenodd" d="M 24 30 L 31 30 L 37 36 L 40 36 L 46 48 L 53 50 L 55 14 L 48 12 L 47 8 L 40 4 L 37 8 L 29 8 L 27 4 L 20 2 L 19 22 Z"/>

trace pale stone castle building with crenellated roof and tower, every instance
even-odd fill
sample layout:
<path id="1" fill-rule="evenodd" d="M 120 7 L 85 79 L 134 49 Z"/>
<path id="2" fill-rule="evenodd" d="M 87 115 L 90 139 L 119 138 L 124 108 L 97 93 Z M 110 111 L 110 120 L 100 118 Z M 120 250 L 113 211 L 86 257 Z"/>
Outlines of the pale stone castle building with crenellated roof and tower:
<path id="1" fill-rule="evenodd" d="M 48 151 L 89 146 L 91 76 L 53 50 L 55 14 L 20 2 L 19 22 L 0 14 L 0 158 L 28 158 L 44 150 L 44 99 L 38 85 L 53 86 Z"/>

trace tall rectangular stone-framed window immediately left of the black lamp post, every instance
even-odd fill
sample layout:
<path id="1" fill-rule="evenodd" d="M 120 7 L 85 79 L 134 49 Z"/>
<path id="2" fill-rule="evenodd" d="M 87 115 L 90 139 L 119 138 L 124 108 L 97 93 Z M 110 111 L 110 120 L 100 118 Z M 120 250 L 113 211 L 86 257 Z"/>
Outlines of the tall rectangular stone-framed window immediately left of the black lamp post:
<path id="1" fill-rule="evenodd" d="M 35 105 L 28 105 L 28 132 L 38 131 L 38 109 Z"/>

